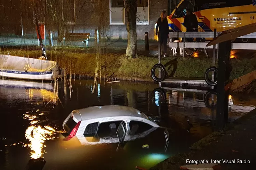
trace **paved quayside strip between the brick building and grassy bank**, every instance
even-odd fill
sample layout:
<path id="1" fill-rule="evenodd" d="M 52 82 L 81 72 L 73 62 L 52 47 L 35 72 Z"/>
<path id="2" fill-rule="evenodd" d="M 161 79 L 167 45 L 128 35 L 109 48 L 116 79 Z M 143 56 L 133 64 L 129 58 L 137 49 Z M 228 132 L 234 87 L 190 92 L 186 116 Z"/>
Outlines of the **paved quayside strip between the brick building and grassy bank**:
<path id="1" fill-rule="evenodd" d="M 50 49 L 49 40 L 46 39 L 45 43 L 43 40 L 43 44 L 46 44 L 46 51 Z M 58 44 L 57 40 L 53 42 L 54 48 L 57 48 Z M 96 53 L 95 50 L 95 40 L 89 39 L 88 48 L 85 48 L 85 44 L 82 41 L 65 41 L 66 49 L 74 49 L 76 47 L 76 52 L 81 53 Z M 35 38 L 23 38 L 23 37 L 0 37 L 0 46 L 1 50 L 3 50 L 3 46 L 5 48 L 17 48 L 17 49 L 27 49 L 29 50 L 38 50 L 40 49 L 38 45 L 38 39 Z M 101 44 L 103 48 L 103 53 L 118 53 L 125 54 L 127 48 L 127 40 L 124 39 L 111 39 L 108 41 L 103 40 Z M 60 46 L 59 46 L 60 47 Z M 137 40 L 137 51 L 139 55 L 145 56 L 158 56 L 158 42 L 155 40 L 149 40 L 149 49 L 145 50 L 145 40 Z M 167 48 L 167 52 L 171 53 L 171 49 Z"/>

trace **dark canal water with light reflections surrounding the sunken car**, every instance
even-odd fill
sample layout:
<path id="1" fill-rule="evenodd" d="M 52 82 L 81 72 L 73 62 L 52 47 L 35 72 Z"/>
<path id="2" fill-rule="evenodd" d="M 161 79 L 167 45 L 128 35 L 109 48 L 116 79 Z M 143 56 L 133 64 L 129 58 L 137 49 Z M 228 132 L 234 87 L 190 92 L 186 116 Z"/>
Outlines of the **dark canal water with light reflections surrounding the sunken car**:
<path id="1" fill-rule="evenodd" d="M 157 88 L 153 83 L 101 83 L 91 94 L 93 83 L 76 80 L 70 98 L 69 90 L 63 97 L 63 83 L 55 94 L 48 83 L 0 80 L 0 169 L 24 169 L 30 157 L 44 157 L 44 170 L 150 168 L 185 152 L 213 131 L 215 111 L 205 106 L 206 91 L 167 90 L 162 100 L 153 92 Z M 61 102 L 54 105 L 52 99 L 57 96 Z M 232 121 L 255 108 L 256 96 L 232 95 L 229 103 Z M 83 145 L 83 139 L 76 137 L 63 141 L 63 120 L 72 110 L 88 105 L 127 105 L 158 119 L 170 135 L 167 150 L 162 128 L 123 147 L 118 143 Z M 142 148 L 145 144 L 148 149 Z"/>

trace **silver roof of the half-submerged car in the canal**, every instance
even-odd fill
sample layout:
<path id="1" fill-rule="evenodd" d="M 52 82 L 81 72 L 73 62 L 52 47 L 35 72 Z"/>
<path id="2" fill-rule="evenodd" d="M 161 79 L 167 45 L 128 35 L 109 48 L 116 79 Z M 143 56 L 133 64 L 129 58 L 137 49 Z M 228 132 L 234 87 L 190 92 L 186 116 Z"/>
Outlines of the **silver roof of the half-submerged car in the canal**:
<path id="1" fill-rule="evenodd" d="M 82 109 L 76 109 L 75 111 L 78 111 L 81 114 L 82 120 L 118 116 L 140 117 L 147 119 L 147 116 L 144 113 L 141 113 L 139 110 L 129 106 L 93 106 Z"/>

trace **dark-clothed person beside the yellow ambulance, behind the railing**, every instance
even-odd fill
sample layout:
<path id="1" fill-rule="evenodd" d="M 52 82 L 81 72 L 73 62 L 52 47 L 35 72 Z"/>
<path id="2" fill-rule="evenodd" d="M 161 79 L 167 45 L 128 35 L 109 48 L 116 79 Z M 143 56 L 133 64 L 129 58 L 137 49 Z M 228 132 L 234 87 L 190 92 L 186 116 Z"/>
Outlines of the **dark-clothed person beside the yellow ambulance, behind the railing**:
<path id="1" fill-rule="evenodd" d="M 198 21 L 197 16 L 191 12 L 190 9 L 187 9 L 184 18 L 184 26 L 187 29 L 187 32 L 198 32 Z M 193 38 L 188 38 L 189 42 L 193 42 Z"/>

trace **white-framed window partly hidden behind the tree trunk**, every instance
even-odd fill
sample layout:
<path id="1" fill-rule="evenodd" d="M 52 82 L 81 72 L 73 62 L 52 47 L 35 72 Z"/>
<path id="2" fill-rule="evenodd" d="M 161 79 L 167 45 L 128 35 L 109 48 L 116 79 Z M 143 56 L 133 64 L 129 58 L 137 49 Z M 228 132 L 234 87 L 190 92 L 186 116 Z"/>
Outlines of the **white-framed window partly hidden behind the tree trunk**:
<path id="1" fill-rule="evenodd" d="M 137 24 L 145 25 L 149 22 L 149 0 L 137 0 Z M 125 24 L 124 0 L 110 0 L 110 24 Z"/>

